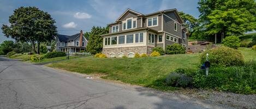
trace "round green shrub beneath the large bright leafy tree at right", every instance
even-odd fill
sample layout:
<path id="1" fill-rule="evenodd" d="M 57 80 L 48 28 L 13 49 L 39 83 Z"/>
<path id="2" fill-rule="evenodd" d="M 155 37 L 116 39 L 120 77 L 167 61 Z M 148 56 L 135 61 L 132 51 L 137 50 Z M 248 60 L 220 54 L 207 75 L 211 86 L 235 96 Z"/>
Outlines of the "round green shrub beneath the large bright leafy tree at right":
<path id="1" fill-rule="evenodd" d="M 226 47 L 237 49 L 238 47 L 240 47 L 240 39 L 236 36 L 228 36 L 223 39 L 223 44 Z"/>

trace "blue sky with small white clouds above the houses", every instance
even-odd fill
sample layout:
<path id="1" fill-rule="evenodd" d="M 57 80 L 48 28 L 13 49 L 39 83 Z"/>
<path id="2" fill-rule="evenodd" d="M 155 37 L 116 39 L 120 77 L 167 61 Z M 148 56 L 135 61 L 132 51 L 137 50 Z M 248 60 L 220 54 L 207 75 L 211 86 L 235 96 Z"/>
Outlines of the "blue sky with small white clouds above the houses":
<path id="1" fill-rule="evenodd" d="M 198 0 L 0 0 L 0 25 L 9 24 L 13 10 L 19 7 L 37 7 L 47 11 L 56 20 L 59 34 L 73 35 L 79 30 L 90 31 L 93 26 L 105 27 L 114 22 L 126 9 L 142 14 L 173 9 L 183 11 L 198 18 Z M 0 30 L 0 43 L 7 39 Z"/>

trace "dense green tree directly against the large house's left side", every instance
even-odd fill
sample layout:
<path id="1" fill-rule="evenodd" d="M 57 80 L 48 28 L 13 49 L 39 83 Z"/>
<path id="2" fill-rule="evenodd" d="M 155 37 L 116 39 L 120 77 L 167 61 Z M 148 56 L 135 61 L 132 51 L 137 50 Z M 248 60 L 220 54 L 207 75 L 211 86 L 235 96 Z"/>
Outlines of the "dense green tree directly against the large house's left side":
<path id="1" fill-rule="evenodd" d="M 92 27 L 90 32 L 90 40 L 88 41 L 87 50 L 91 54 L 96 54 L 102 52 L 103 48 L 103 37 L 100 35 L 108 34 L 109 27 Z"/>

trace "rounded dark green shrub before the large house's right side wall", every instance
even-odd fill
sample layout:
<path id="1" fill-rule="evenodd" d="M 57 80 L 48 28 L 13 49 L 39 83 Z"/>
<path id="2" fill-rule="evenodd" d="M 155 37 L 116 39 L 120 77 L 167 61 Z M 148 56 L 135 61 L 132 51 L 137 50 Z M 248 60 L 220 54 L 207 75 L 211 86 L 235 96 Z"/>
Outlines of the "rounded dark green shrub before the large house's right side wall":
<path id="1" fill-rule="evenodd" d="M 166 47 L 166 54 L 184 54 L 186 52 L 186 48 L 184 48 L 181 44 L 171 44 Z"/>

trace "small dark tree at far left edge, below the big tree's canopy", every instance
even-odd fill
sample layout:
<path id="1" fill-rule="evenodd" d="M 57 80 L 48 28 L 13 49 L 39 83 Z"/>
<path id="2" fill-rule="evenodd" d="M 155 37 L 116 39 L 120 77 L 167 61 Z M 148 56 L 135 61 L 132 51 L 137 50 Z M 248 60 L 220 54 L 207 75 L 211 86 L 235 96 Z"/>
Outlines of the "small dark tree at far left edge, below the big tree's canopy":
<path id="1" fill-rule="evenodd" d="M 0 44 L 0 53 L 5 55 L 11 51 L 13 51 L 14 42 L 13 41 L 4 41 Z"/>

